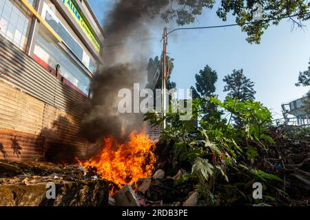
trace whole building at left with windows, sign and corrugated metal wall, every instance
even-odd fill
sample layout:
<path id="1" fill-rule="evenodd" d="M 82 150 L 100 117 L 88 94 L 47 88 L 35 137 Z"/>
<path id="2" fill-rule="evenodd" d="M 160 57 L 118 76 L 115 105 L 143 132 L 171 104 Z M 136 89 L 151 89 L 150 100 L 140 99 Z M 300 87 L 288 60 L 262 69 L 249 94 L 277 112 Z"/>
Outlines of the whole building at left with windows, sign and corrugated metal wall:
<path id="1" fill-rule="evenodd" d="M 103 30 L 87 0 L 0 0 L 0 159 L 68 161 Z"/>

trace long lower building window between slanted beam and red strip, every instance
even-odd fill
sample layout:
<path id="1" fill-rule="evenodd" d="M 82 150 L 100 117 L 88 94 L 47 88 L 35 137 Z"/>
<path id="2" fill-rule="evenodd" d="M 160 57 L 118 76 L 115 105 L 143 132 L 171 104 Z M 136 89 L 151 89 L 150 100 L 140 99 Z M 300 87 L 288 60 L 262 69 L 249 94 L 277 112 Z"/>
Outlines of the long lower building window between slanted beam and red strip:
<path id="1" fill-rule="evenodd" d="M 39 32 L 37 42 L 34 47 L 34 60 L 40 59 L 44 65 L 48 65 L 49 69 L 55 69 L 56 65 L 60 65 L 60 74 L 70 81 L 72 85 L 88 95 L 90 86 L 90 76 L 87 76 L 83 69 L 78 67 L 67 52 L 59 45 L 56 45 L 48 36 Z"/>

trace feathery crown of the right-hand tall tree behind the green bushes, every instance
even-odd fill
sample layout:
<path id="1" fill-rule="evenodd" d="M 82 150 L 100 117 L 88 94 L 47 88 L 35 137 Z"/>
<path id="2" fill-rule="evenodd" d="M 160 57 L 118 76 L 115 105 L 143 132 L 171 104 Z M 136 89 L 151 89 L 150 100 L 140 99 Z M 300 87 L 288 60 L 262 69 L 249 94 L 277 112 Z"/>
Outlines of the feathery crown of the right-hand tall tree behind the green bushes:
<path id="1" fill-rule="evenodd" d="M 254 83 L 243 74 L 243 69 L 233 70 L 233 73 L 225 76 L 226 83 L 224 91 L 228 91 L 228 96 L 237 98 L 240 101 L 255 99 Z"/>

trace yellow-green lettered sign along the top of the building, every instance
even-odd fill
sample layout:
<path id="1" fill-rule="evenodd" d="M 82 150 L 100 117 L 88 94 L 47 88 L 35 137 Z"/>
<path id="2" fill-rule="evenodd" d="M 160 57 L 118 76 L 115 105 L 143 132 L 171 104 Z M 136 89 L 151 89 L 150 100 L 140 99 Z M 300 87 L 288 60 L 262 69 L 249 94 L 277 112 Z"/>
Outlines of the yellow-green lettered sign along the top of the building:
<path id="1" fill-rule="evenodd" d="M 100 45 L 98 41 L 96 40 L 94 34 L 92 34 L 92 31 L 86 24 L 85 20 L 81 17 L 80 12 L 76 9 L 74 3 L 72 3 L 72 0 L 63 0 L 63 4 L 66 8 L 71 12 L 72 16 L 74 17 L 75 21 L 79 23 L 80 27 L 82 28 L 83 32 L 87 35 L 88 39 L 90 39 L 90 42 L 92 42 L 92 45 L 94 46 L 96 52 L 100 52 Z"/>

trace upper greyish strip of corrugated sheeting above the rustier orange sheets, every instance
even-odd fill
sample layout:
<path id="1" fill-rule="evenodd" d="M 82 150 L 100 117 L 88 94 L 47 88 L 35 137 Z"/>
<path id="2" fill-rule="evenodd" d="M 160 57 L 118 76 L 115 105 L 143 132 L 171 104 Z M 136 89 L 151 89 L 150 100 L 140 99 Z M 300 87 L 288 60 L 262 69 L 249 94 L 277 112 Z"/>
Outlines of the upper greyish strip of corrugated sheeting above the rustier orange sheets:
<path id="1" fill-rule="evenodd" d="M 41 65 L 0 36 L 0 76 L 25 93 L 63 111 L 81 115 L 87 98 L 52 76 Z"/>

